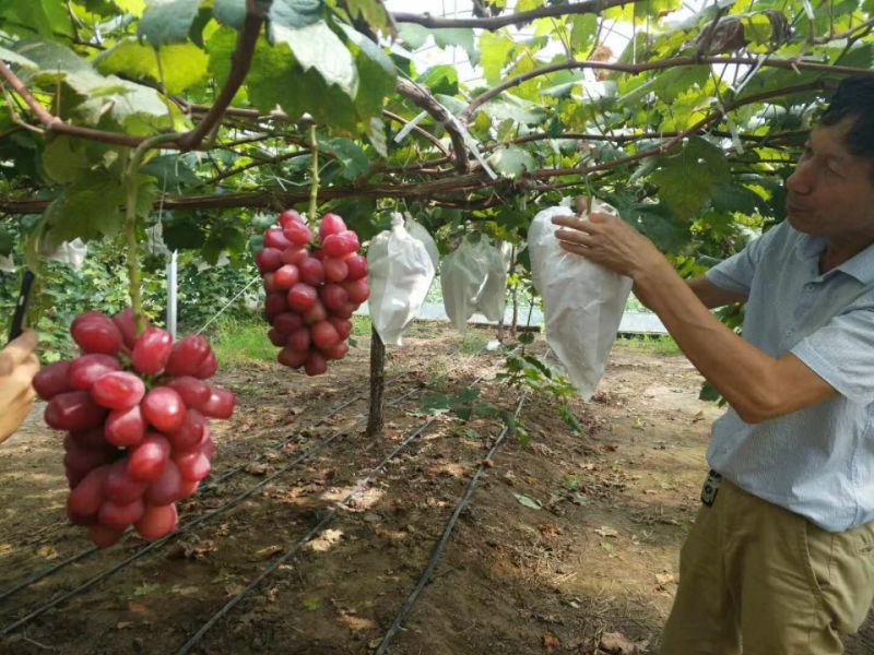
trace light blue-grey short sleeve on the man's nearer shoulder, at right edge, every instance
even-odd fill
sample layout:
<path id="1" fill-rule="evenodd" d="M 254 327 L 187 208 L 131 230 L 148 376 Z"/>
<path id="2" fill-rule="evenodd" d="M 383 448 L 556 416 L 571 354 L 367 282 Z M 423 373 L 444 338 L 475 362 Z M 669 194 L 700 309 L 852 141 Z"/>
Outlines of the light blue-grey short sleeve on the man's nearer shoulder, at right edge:
<path id="1" fill-rule="evenodd" d="M 874 307 L 835 317 L 791 353 L 853 403 L 874 402 Z"/>

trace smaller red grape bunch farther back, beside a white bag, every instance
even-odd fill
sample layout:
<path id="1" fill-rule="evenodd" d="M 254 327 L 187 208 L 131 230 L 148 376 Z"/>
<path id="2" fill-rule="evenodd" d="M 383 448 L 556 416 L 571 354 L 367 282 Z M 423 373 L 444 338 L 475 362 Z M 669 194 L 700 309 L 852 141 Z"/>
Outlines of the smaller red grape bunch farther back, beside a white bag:
<path id="1" fill-rule="evenodd" d="M 264 233 L 256 255 L 264 279 L 264 313 L 280 364 L 319 376 L 328 361 L 349 353 L 352 314 L 367 300 L 367 260 L 358 254 L 358 235 L 336 214 L 322 216 L 312 230 L 294 210 Z"/>

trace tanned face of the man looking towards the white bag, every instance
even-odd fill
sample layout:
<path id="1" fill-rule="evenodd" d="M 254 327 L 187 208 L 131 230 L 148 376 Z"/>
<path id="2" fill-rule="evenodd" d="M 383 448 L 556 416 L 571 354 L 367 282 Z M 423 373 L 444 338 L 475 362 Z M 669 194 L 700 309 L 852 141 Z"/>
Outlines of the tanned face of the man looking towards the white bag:
<path id="1" fill-rule="evenodd" d="M 787 216 L 796 230 L 836 242 L 874 239 L 874 164 L 847 150 L 851 120 L 811 132 L 787 180 Z M 858 240 L 862 241 L 858 241 Z"/>

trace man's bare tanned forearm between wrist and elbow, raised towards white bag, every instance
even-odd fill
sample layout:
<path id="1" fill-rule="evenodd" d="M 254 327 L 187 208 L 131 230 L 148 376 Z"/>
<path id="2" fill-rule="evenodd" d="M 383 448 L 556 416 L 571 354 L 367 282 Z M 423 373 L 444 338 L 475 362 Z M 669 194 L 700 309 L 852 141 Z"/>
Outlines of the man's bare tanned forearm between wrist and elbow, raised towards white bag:
<path id="1" fill-rule="evenodd" d="M 635 295 L 652 309 L 695 368 L 744 420 L 760 420 L 777 364 L 723 325 L 670 263 L 635 276 Z"/>

